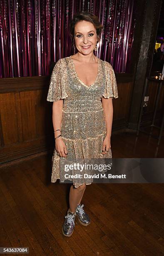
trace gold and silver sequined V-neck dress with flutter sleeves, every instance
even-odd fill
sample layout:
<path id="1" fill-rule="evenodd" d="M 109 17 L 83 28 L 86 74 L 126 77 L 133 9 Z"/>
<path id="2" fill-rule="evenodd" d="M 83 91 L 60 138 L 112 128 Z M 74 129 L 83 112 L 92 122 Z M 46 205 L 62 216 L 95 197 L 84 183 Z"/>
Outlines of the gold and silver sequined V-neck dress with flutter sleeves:
<path id="1" fill-rule="evenodd" d="M 111 149 L 107 154 L 101 154 L 106 136 L 101 98 L 118 98 L 117 83 L 111 64 L 99 58 L 97 60 L 97 78 L 90 86 L 77 76 L 72 56 L 59 59 L 52 71 L 47 101 L 64 99 L 61 133 L 68 155 L 60 157 L 54 148 L 51 182 L 57 179 L 63 182 L 61 161 L 68 164 L 72 159 L 112 158 Z M 72 181 L 75 187 L 84 184 L 81 179 Z M 90 179 L 85 180 L 85 184 L 91 183 Z"/>

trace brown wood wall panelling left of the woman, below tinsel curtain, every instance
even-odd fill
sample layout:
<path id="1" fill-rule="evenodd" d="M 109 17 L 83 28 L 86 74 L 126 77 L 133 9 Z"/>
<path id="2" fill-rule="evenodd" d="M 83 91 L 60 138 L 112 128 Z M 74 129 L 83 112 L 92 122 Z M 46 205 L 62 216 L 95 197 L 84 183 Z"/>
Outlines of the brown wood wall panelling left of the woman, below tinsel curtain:
<path id="1" fill-rule="evenodd" d="M 0 92 L 0 162 L 47 150 L 47 77 L 1 79 Z"/>

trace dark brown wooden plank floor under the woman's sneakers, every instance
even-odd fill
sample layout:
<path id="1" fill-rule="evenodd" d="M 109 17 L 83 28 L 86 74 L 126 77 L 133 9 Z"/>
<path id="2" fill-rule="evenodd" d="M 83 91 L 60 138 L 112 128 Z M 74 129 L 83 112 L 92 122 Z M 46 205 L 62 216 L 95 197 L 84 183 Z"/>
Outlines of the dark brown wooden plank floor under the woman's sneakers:
<path id="1" fill-rule="evenodd" d="M 117 131 L 111 149 L 117 158 L 163 158 L 164 140 L 157 147 L 145 134 Z M 91 224 L 76 220 L 67 238 L 62 224 L 70 184 L 50 183 L 51 156 L 1 166 L 0 247 L 29 247 L 37 256 L 164 255 L 164 184 L 88 185 L 82 203 Z"/>

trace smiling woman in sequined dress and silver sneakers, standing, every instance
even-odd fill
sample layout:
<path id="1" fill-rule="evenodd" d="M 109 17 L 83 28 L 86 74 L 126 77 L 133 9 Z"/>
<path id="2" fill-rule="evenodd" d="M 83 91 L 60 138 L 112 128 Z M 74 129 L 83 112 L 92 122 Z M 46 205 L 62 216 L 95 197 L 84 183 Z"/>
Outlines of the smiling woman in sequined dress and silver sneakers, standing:
<path id="1" fill-rule="evenodd" d="M 118 92 L 112 66 L 93 54 L 101 32 L 102 25 L 97 16 L 87 12 L 74 15 L 70 35 L 77 54 L 58 60 L 52 71 L 47 95 L 47 101 L 53 101 L 55 133 L 51 182 L 61 181 L 64 175 L 63 168 L 60 170 L 62 161 L 112 158 L 112 98 L 117 98 Z M 72 181 L 70 208 L 62 227 L 64 236 L 72 235 L 76 215 L 82 225 L 90 223 L 81 200 L 86 185 L 92 182 Z"/>

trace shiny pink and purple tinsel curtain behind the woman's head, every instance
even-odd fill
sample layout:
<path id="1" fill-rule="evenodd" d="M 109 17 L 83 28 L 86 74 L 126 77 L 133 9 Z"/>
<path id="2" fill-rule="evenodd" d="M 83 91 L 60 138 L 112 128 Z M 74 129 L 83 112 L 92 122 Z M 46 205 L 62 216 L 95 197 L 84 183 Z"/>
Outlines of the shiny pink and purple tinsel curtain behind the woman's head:
<path id="1" fill-rule="evenodd" d="M 52 62 L 74 54 L 68 25 L 84 10 L 104 25 L 96 55 L 128 72 L 134 0 L 0 0 L 0 78 L 49 75 Z"/>

